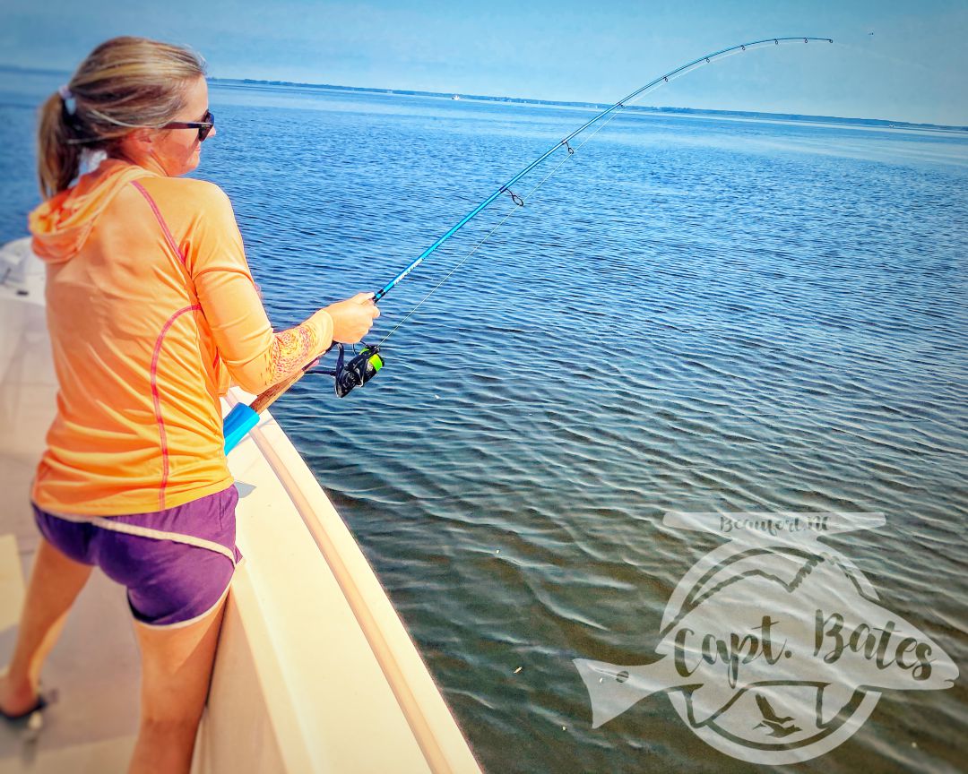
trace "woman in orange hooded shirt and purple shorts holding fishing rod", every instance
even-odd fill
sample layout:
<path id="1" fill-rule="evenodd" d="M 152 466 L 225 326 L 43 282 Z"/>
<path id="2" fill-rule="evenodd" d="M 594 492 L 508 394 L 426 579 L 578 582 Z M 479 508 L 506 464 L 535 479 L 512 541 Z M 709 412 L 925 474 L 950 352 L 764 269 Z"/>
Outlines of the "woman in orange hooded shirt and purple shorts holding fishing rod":
<path id="1" fill-rule="evenodd" d="M 0 711 L 43 703 L 45 656 L 97 564 L 127 586 L 136 619 L 133 772 L 191 764 L 240 558 L 219 403 L 229 378 L 262 392 L 379 315 L 360 293 L 272 332 L 226 195 L 180 177 L 215 134 L 197 55 L 138 38 L 99 45 L 40 121 L 45 203 L 30 227 L 60 390 Z M 107 158 L 75 182 L 84 150 Z"/>

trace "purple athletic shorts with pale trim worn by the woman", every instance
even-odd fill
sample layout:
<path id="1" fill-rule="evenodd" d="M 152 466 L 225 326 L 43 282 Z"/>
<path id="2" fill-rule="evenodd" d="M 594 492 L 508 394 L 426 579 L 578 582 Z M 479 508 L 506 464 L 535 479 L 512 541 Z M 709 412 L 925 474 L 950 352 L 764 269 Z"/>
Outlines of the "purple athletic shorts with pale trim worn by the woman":
<path id="1" fill-rule="evenodd" d="M 34 505 L 34 518 L 56 549 L 126 586 L 138 621 L 184 626 L 222 601 L 242 558 L 235 547 L 238 497 L 232 486 L 164 511 L 93 519 Z"/>

